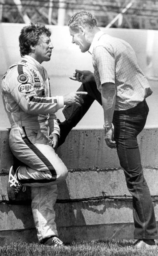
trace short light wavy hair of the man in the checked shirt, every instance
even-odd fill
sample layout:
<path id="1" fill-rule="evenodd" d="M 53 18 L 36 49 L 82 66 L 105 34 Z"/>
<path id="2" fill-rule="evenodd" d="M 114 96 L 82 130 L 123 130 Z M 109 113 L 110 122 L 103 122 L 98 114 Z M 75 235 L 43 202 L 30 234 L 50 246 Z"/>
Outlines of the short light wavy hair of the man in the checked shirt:
<path id="1" fill-rule="evenodd" d="M 79 26 L 87 26 L 89 29 L 93 29 L 97 26 L 97 21 L 91 13 L 80 11 L 69 19 L 68 26 L 74 31 L 78 31 Z"/>

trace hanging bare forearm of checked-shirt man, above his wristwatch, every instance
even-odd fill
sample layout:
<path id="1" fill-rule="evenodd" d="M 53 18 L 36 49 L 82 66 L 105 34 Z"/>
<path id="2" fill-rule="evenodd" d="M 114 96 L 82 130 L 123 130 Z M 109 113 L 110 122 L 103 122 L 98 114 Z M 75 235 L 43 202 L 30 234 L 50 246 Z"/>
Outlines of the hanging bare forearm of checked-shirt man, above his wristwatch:
<path id="1" fill-rule="evenodd" d="M 106 126 L 112 124 L 115 109 L 116 87 L 113 83 L 105 83 L 102 85 L 102 105 L 104 111 L 104 122 Z"/>

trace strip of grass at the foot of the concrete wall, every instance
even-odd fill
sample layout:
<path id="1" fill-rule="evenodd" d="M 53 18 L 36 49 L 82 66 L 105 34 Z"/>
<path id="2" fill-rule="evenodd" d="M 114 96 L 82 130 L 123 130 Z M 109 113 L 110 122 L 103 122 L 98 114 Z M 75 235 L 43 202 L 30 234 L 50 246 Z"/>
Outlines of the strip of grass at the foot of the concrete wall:
<path id="1" fill-rule="evenodd" d="M 133 240 L 82 241 L 59 248 L 36 243 L 11 243 L 0 247 L 0 256 L 156 256 L 152 249 L 138 250 Z"/>

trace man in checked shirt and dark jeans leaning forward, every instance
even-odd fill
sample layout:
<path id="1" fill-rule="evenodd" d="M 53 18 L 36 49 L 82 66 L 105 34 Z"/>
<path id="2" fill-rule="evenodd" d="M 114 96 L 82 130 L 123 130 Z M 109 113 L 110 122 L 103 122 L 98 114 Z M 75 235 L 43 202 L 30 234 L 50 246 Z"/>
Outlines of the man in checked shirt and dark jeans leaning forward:
<path id="1" fill-rule="evenodd" d="M 82 53 L 92 55 L 94 74 L 76 70 L 76 80 L 82 82 L 78 91 L 83 95 L 82 107 L 66 107 L 66 121 L 60 124 L 64 135 L 74 127 L 96 99 L 104 111 L 105 142 L 117 149 L 124 170 L 128 190 L 133 196 L 135 245 L 138 248 L 156 248 L 158 238 L 153 203 L 143 175 L 137 135 L 146 123 L 148 106 L 146 98 L 152 91 L 137 64 L 132 47 L 119 38 L 103 33 L 91 13 L 76 13 L 69 20 L 72 43 L 79 45 Z M 114 129 L 112 127 L 114 125 Z"/>

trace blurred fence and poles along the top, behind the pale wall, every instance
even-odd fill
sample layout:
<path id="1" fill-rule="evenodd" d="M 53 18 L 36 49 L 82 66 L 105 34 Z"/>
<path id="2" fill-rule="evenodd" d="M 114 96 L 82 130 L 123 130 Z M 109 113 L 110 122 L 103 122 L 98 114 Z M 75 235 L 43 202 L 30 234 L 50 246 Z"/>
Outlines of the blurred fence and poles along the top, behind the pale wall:
<path id="1" fill-rule="evenodd" d="M 67 25 L 77 11 L 90 11 L 98 25 L 158 29 L 157 0 L 0 0 L 0 22 Z"/>

